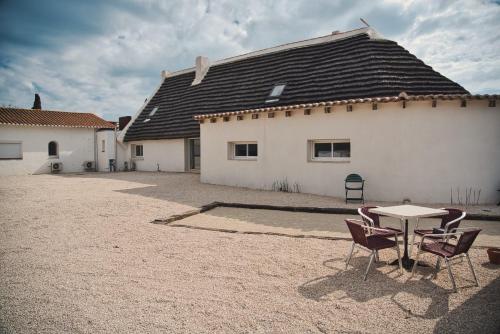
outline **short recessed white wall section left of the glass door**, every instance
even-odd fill
[[[131,146],[143,145],[143,157],[133,159]],[[127,143],[128,157],[136,164],[139,171],[184,172],[184,139],[144,140]]]

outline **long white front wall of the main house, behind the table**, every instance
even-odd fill
[[[308,140],[350,139],[349,162],[308,161]],[[228,142],[257,141],[256,161],[228,159]],[[297,182],[301,192],[344,196],[344,179],[359,173],[370,200],[449,203],[450,189],[481,189],[481,202],[494,203],[500,188],[500,110],[488,101],[430,101],[337,106],[331,114],[293,110],[275,118],[201,124],[201,180],[270,189],[275,180]]]

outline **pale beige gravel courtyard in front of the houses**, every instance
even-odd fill
[[[363,282],[368,257],[358,252],[345,270],[346,240],[150,223],[213,201],[332,206],[328,197],[203,185],[193,174],[0,177],[0,332],[500,331],[500,267],[483,244],[471,251],[480,287],[457,262],[459,292],[450,293],[446,269],[430,280],[432,268],[419,268],[409,279],[385,264],[392,251]],[[287,230],[315,219],[234,210],[186,222],[268,231],[275,221]],[[342,218],[331,217],[333,232]],[[477,223],[484,245],[498,246],[500,222]]]

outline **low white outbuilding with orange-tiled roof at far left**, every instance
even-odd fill
[[[0,174],[109,170],[114,128],[89,113],[0,108]]]

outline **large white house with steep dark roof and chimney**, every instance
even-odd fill
[[[498,97],[471,95],[371,28],[198,57],[162,78],[120,136],[138,170],[342,197],[358,173],[369,200],[498,201]]]

